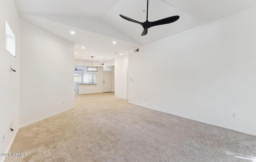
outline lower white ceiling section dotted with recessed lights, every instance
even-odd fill
[[[128,50],[140,46],[139,43],[134,43],[136,41],[111,27],[103,31],[103,33],[109,31],[107,34],[112,33],[112,35],[116,35],[116,37],[91,32],[88,29],[76,27],[76,25],[71,26],[65,23],[58,23],[59,20],[68,20],[66,18],[52,21],[50,18],[45,19],[40,16],[24,13],[20,13],[20,17],[74,43],[74,52],[77,53],[75,54],[76,61],[90,62],[93,56],[94,62],[112,62],[118,57],[128,55]],[[104,26],[104,24],[102,24],[101,27],[107,28],[108,25]],[[111,29],[113,30],[112,32],[110,32]],[[94,30],[96,30],[96,28],[94,28]],[[72,35],[70,31],[75,31],[76,34]],[[116,44],[113,44],[113,41],[116,41]],[[85,49],[82,49],[82,47],[85,47]]]

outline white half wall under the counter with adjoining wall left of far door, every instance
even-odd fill
[[[103,93],[103,67],[98,67],[96,73],[96,84],[79,85],[78,94]]]

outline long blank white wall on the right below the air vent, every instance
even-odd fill
[[[252,8],[129,51],[129,102],[256,135],[255,29]]]

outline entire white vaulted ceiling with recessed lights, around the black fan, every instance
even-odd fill
[[[148,29],[119,16],[146,20],[146,0],[15,0],[20,17],[75,44],[76,61],[110,62],[127,51],[256,6],[256,0],[149,0],[148,20],[179,15]],[[70,31],[75,31],[71,35]],[[112,44],[116,41],[117,44]],[[82,49],[81,47],[86,47]],[[116,53],[116,54],[115,54]],[[111,57],[111,59],[109,59]]]

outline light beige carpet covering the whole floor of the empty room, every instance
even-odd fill
[[[5,162],[256,162],[256,137],[115,98],[75,95],[75,108],[18,131]]]

